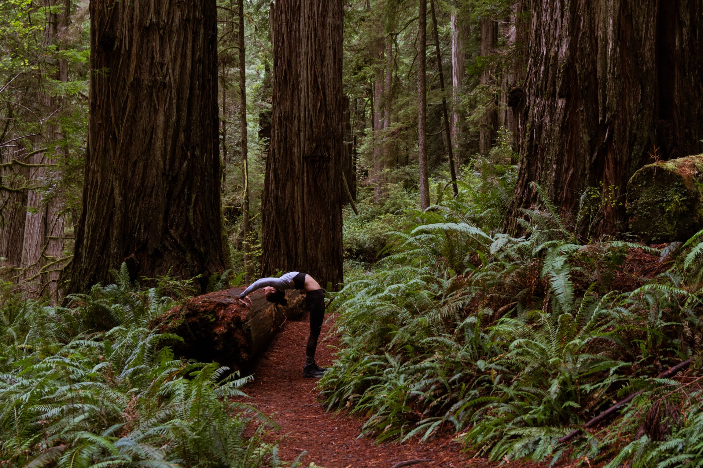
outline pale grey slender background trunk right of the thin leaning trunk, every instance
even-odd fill
[[[466,74],[465,44],[468,41],[468,27],[460,22],[456,8],[451,12],[451,95],[453,109],[451,113],[451,143],[454,149],[454,165],[458,178],[461,178],[461,157],[459,141],[463,138],[464,116],[458,109],[461,86]]]

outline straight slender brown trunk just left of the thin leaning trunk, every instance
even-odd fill
[[[420,0],[418,15],[418,162],[420,164],[420,206],[430,206],[430,178],[427,168],[427,85],[425,65],[427,49],[427,0]]]

